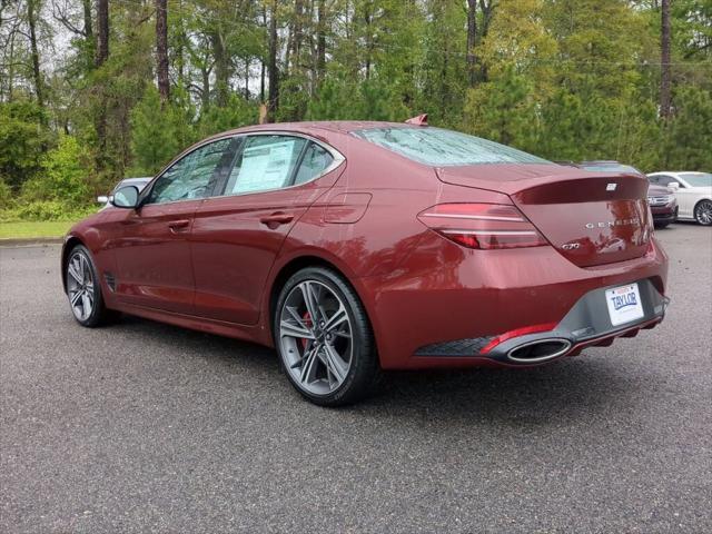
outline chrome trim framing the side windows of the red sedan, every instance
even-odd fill
[[[199,145],[194,146],[192,149],[190,149],[190,151],[184,152],[180,158],[174,159],[170,164],[168,164],[168,166],[166,166],[166,168],[164,170],[161,170],[161,172],[159,175],[156,175],[156,177],[152,180],[150,180],[148,184],[146,184],[146,186],[141,190],[141,195],[144,195],[144,194],[150,195],[150,191],[154,188],[154,184],[156,181],[158,181],[160,179],[160,177],[162,177],[168,171],[168,169],[170,169],[180,159],[190,156],[196,150],[198,150],[198,149],[200,149],[200,148],[202,148],[206,145],[209,145],[211,142],[222,141],[225,139],[235,139],[235,138],[239,138],[239,137],[247,137],[247,136],[300,137],[303,139],[307,139],[307,140],[314,142],[314,144],[318,145],[319,147],[322,147],[323,149],[325,149],[327,152],[329,152],[332,155],[332,157],[334,158],[334,161],[332,161],[332,165],[329,165],[326,169],[324,169],[319,175],[315,176],[314,178],[312,178],[308,181],[303,181],[301,184],[295,184],[295,185],[287,186],[287,187],[276,187],[276,188],[273,188],[273,189],[263,189],[263,190],[259,190],[259,191],[236,192],[236,194],[233,194],[233,195],[212,195],[212,196],[209,196],[209,197],[186,198],[184,200],[172,200],[170,202],[160,202],[160,204],[157,204],[157,202],[156,204],[141,204],[139,207],[144,208],[146,206],[169,206],[169,205],[172,205],[172,204],[180,204],[180,202],[194,202],[196,200],[211,200],[211,199],[215,199],[215,198],[233,198],[233,197],[244,197],[244,196],[247,196],[247,195],[260,195],[263,192],[284,191],[284,190],[287,190],[287,189],[294,189],[295,187],[304,187],[307,184],[312,184],[313,181],[318,180],[323,176],[326,176],[329,172],[336,170],[344,161],[346,161],[346,157],[342,152],[339,152],[337,149],[335,149],[330,145],[327,145],[323,140],[317,139],[316,137],[309,136],[308,134],[301,134],[301,132],[288,131],[288,130],[259,130],[259,131],[245,131],[245,132],[240,132],[240,134],[230,134],[230,135],[226,135],[226,136],[221,136],[221,137],[217,137],[217,138],[212,138],[212,139],[206,139],[205,141],[200,142]]]

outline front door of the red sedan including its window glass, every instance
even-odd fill
[[[141,205],[118,222],[116,294],[126,304],[192,314],[195,279],[190,228],[202,199],[212,195],[233,138],[202,145],[166,169]]]

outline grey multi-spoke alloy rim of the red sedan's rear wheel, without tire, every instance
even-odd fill
[[[354,358],[352,322],[342,298],[317,280],[296,285],[280,310],[279,343],[299,387],[314,395],[336,390]]]

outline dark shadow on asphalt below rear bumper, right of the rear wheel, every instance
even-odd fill
[[[650,398],[650,377],[635,383],[624,367],[617,358],[584,353],[530,369],[393,373],[378,395],[352,409],[522,432],[580,425],[629,413]]]

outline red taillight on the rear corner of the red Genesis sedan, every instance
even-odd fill
[[[514,206],[502,204],[438,204],[418,214],[428,228],[467,248],[542,247],[548,245]]]

